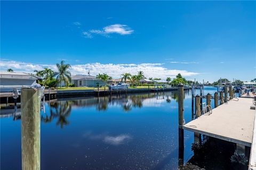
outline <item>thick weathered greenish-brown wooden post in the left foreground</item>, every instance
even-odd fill
[[[22,169],[40,169],[40,101],[39,90],[21,89]]]

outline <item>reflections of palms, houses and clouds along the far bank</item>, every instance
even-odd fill
[[[185,93],[186,94],[186,93]],[[167,93],[142,93],[142,94],[117,94],[113,96],[69,98],[51,101],[48,104],[50,111],[41,116],[43,123],[52,123],[53,119],[58,119],[56,125],[63,128],[70,124],[68,117],[72,108],[92,107],[98,111],[107,111],[109,107],[121,107],[123,111],[130,112],[133,108],[159,107],[163,102],[171,103],[171,100],[178,101],[178,94]]]

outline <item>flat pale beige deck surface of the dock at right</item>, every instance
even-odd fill
[[[238,98],[183,125],[184,129],[251,147],[255,110],[252,99]]]

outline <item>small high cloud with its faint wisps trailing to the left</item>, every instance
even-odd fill
[[[79,27],[81,26],[80,22],[74,22],[73,24]],[[129,35],[129,34],[132,34],[133,32],[134,30],[128,27],[127,25],[122,25],[117,23],[114,25],[103,27],[102,29],[84,30],[82,32],[82,35],[85,38],[93,38],[94,35],[110,37],[110,34]]]

